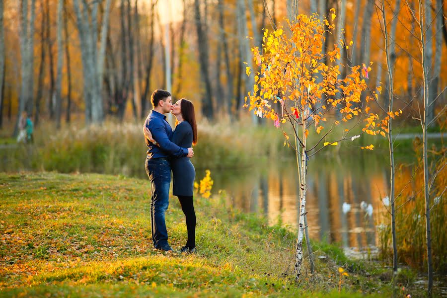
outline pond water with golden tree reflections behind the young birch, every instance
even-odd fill
[[[356,159],[355,161],[352,159]],[[375,246],[374,216],[387,195],[386,160],[359,155],[309,160],[307,221],[310,237],[359,249]],[[298,170],[293,159],[238,171],[212,171],[214,190],[224,189],[228,204],[245,212],[264,213],[270,224],[298,225]],[[346,202],[351,210],[343,213]],[[372,204],[373,216],[361,203]]]

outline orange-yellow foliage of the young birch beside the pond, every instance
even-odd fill
[[[331,11],[333,20],[335,9],[332,8]],[[368,113],[369,102],[377,97],[375,91],[366,98],[366,102],[361,102],[361,93],[368,87],[365,78],[368,78],[373,63],[368,67],[354,66],[345,77],[341,77],[339,66],[335,63],[340,59],[337,45],[326,54],[322,53],[326,28],[332,31],[334,25],[327,19],[320,21],[316,14],[300,14],[295,23],[290,20],[287,23],[292,32],[291,37],[282,27],[271,33],[266,29],[263,51],[258,47],[252,49],[253,59],[260,70],[254,76],[256,84],[253,92],[248,92],[245,97],[245,107],[250,111],[254,110],[259,117],[264,116],[275,121],[277,127],[286,122],[294,127],[301,126],[303,138],[308,135],[305,128],[312,124],[316,133],[320,134],[328,125],[326,116],[330,113],[339,113],[344,122],[360,122],[365,116],[363,131],[370,135],[384,136],[388,117],[394,118],[399,112],[390,113],[385,119]],[[326,65],[325,61],[333,64]],[[251,74],[250,67],[247,67],[246,73]],[[380,91],[380,87],[377,89]],[[281,111],[273,108],[273,104],[277,102],[281,103]],[[330,123],[330,130],[339,123]],[[348,133],[343,134],[339,141],[350,139]],[[368,146],[365,149],[373,147]]]

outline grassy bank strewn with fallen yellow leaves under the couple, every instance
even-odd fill
[[[305,267],[294,283],[295,232],[225,207],[223,198],[195,199],[198,253],[181,255],[153,250],[146,180],[3,173],[0,187],[2,297],[390,296],[389,269],[326,244],[315,243],[316,273]],[[186,226],[174,198],[166,221],[170,244],[181,247]],[[349,274],[341,284],[340,267]]]

